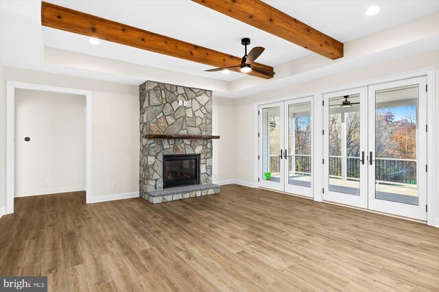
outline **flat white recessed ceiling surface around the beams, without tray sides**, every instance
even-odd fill
[[[220,14],[191,1],[54,1],[74,10],[111,19],[151,32],[178,38],[193,44],[230,53],[244,55],[241,38],[250,37],[251,47],[265,47],[257,60],[278,66],[296,60],[311,52],[291,42],[268,34],[224,14]],[[439,10],[438,1],[265,1],[275,8],[340,40],[347,42],[416,19]],[[381,12],[365,16],[370,5],[379,5]],[[91,45],[88,38],[58,29],[43,28],[43,42],[49,47],[85,53],[113,60],[168,69],[217,80],[233,81],[244,75],[230,72],[224,75],[206,73],[212,67],[181,60],[158,53],[102,41]]]

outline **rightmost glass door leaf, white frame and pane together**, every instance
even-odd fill
[[[371,86],[369,205],[416,219],[425,211],[425,77]],[[422,150],[424,149],[424,150]]]

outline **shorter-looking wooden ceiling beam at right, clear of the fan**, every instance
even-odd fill
[[[343,57],[343,43],[260,0],[192,0],[264,32],[332,60]]]

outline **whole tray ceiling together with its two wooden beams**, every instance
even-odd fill
[[[351,64],[354,61],[363,66],[370,64],[372,59],[400,55],[402,58],[410,52],[420,53],[437,47],[434,42],[437,36],[431,30],[429,20],[423,21],[425,26],[419,28],[421,34],[412,34],[412,30],[407,30],[407,35],[394,34],[397,43],[388,37],[374,38],[374,33],[380,34],[384,29],[427,17],[427,14],[433,15],[439,10],[438,1],[47,2],[69,11],[76,10],[73,14],[77,17],[90,14],[103,22],[118,23],[119,34],[123,27],[134,29],[134,34],[124,34],[137,36],[137,42],[126,37],[112,36],[114,39],[110,39],[106,35],[104,39],[108,40],[91,45],[88,39],[93,31],[84,19],[62,23],[51,12],[49,24],[45,23],[45,16],[41,17],[44,4],[40,1],[1,1],[2,64],[128,84],[156,79],[209,88],[224,93],[222,96],[237,97],[321,76],[316,72],[312,76],[303,75],[307,71],[324,69],[324,74],[335,72],[329,70],[331,64],[342,70],[358,66]],[[372,4],[379,5],[381,12],[377,16],[365,16],[366,8]],[[227,5],[231,8],[227,9]],[[49,26],[42,25],[42,21]],[[149,32],[147,37],[156,38],[155,47],[143,44],[143,31]],[[102,29],[97,32],[102,32]],[[238,72],[205,72],[224,64],[235,65],[235,61],[239,64],[244,55],[241,38],[245,37],[251,39],[249,51],[253,47],[265,47],[256,62],[276,72],[274,78],[265,80]],[[367,41],[369,39],[379,39],[380,42]],[[178,42],[179,49],[163,46],[166,41],[168,44],[169,41]],[[353,43],[359,45],[351,45]],[[375,45],[371,47],[372,44]],[[175,48],[176,44],[173,45]],[[403,49],[403,46],[408,48]],[[390,49],[395,51],[390,53]],[[207,53],[211,58],[207,58]],[[378,56],[379,53],[382,57]],[[366,57],[370,59],[367,62]]]

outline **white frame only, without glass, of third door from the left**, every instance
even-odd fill
[[[360,182],[359,182],[359,196],[348,195],[344,193],[337,193],[329,191],[329,99],[333,97],[342,97],[343,95],[359,94],[359,106],[360,106],[360,147],[359,152],[364,151],[365,160],[364,163],[360,163]],[[341,101],[340,101],[341,102]],[[367,117],[367,104],[368,104],[368,88],[366,86],[353,88],[348,90],[335,91],[333,93],[324,94],[324,201],[335,202],[338,204],[345,204],[349,206],[355,206],[358,208],[368,208],[368,192],[367,192],[367,176],[368,168],[366,163],[366,153],[368,153],[367,145],[367,130],[368,130],[368,117]]]

